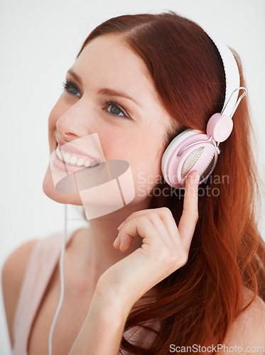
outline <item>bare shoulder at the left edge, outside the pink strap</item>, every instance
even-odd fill
[[[31,255],[33,246],[38,239],[26,241],[18,246],[6,261],[1,270],[1,283],[4,297],[4,307],[6,310],[6,321],[9,328],[9,337],[13,346],[13,319],[16,312],[18,296],[23,283],[23,277],[28,265],[28,259]]]

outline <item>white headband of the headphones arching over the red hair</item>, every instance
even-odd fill
[[[237,65],[237,61],[234,58],[232,51],[229,49],[228,45],[226,45],[220,38],[216,35],[212,35],[209,31],[206,31],[205,28],[202,28],[203,31],[210,37],[217,50],[220,53],[220,57],[222,58],[222,64],[225,70],[225,81],[226,81],[226,89],[225,89],[225,102],[222,107],[222,115],[227,115],[232,118],[232,112],[237,104],[237,94],[233,94],[235,89],[240,87],[240,75],[239,69]],[[232,95],[232,97],[231,97]]]

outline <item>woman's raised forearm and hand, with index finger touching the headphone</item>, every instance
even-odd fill
[[[198,182],[188,176],[178,227],[169,209],[134,212],[121,224],[114,248],[128,251],[135,236],[143,244],[99,278],[90,310],[70,355],[118,354],[131,307],[154,285],[188,261],[198,221]],[[102,339],[103,337],[103,339]]]

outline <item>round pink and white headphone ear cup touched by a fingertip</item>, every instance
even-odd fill
[[[205,133],[188,129],[171,141],[161,161],[163,178],[168,185],[184,189],[188,175],[192,171],[200,172],[199,184],[208,178],[215,169],[218,153],[212,141],[207,139]],[[198,141],[205,142],[197,143]],[[194,143],[193,146],[185,148],[190,143]],[[179,154],[183,148],[185,150]]]

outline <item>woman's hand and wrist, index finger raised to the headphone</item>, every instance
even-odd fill
[[[96,290],[100,295],[118,300],[129,312],[136,300],[187,263],[198,221],[195,175],[188,176],[178,226],[166,207],[134,212],[121,224],[114,248],[128,251],[135,236],[141,236],[142,245],[103,273]]]

